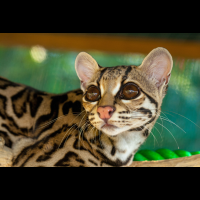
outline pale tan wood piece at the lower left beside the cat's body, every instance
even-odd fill
[[[4,146],[5,140],[0,137],[0,167],[11,167],[13,153],[12,149]]]

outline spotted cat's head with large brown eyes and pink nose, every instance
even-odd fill
[[[90,123],[110,136],[154,125],[172,66],[170,53],[161,47],[140,66],[101,67],[89,54],[79,53],[75,69]]]

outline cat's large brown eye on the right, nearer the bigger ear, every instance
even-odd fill
[[[120,94],[121,99],[134,99],[140,95],[139,87],[134,83],[127,83],[123,86]]]

